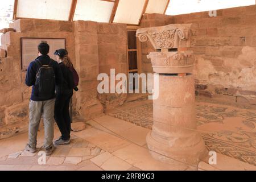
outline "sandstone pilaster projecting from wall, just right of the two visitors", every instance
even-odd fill
[[[86,120],[103,113],[97,99],[99,73],[98,35],[96,22],[75,22],[76,68],[80,76],[75,110]]]

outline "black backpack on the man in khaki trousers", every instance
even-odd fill
[[[35,86],[38,90],[38,97],[42,100],[48,100],[55,92],[55,72],[51,66],[53,60],[49,60],[49,64],[44,64],[36,60],[39,68],[36,72]]]

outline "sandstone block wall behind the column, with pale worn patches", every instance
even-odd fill
[[[150,16],[159,15],[146,15],[142,22],[157,22],[158,18]],[[208,11],[166,17],[172,23],[198,24],[192,30],[198,95],[256,104],[256,5],[218,10],[217,17],[210,17]],[[145,57],[150,47],[144,45],[142,50],[144,72],[151,71],[150,61]]]

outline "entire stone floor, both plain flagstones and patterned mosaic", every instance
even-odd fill
[[[199,101],[197,130],[209,151],[216,151],[217,165],[207,159],[190,166],[151,157],[146,135],[152,127],[152,102],[133,101],[86,122],[86,129],[72,132],[71,144],[57,146],[46,164],[40,165],[43,131],[36,154],[23,151],[27,134],[0,140],[0,170],[256,170],[256,110]],[[55,128],[55,138],[60,135]]]

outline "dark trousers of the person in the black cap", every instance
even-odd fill
[[[72,93],[59,94],[56,96],[54,118],[60,129],[63,140],[70,139],[71,118],[69,115],[69,103]]]

